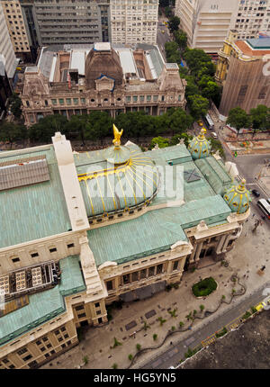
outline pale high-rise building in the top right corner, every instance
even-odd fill
[[[176,0],[175,14],[192,49],[217,53],[229,30],[238,39],[254,39],[270,31],[269,0]]]

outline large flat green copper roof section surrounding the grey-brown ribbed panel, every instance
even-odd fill
[[[2,157],[0,162],[45,155],[49,181],[0,192],[0,248],[49,237],[71,229],[53,147]]]

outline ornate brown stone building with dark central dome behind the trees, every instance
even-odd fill
[[[86,49],[44,48],[37,67],[27,67],[22,94],[29,126],[45,115],[93,110],[159,115],[185,106],[185,81],[175,63],[165,63],[157,46],[136,49],[110,43]],[[112,48],[113,47],[113,48]]]

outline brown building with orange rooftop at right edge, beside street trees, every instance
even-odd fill
[[[220,114],[240,106],[249,112],[258,104],[270,107],[270,38],[238,40],[230,31],[219,51],[216,80],[223,85]]]

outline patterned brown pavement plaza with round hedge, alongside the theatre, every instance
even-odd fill
[[[89,327],[85,332],[84,339],[78,346],[72,348],[67,353],[58,356],[47,365],[41,368],[75,368],[82,365],[82,368],[94,369],[110,369],[113,364],[117,364],[118,368],[127,368],[130,365],[128,356],[134,356],[137,352],[136,345],[141,348],[155,347],[162,342],[166,333],[172,327],[178,328],[179,322],[184,322],[184,328],[190,325],[190,322],[185,318],[189,312],[197,311],[197,315],[201,315],[200,305],[203,304],[205,310],[215,310],[220,302],[221,296],[226,296],[226,301],[229,302],[231,290],[236,291],[240,286],[235,286],[231,281],[232,275],[238,275],[241,284],[247,287],[247,293],[252,293],[258,287],[266,284],[270,277],[270,244],[269,230],[266,224],[258,227],[256,233],[252,233],[255,218],[250,219],[244,224],[241,236],[238,238],[236,247],[227,255],[229,267],[221,266],[219,263],[214,263],[211,258],[204,258],[200,267],[193,273],[184,272],[182,282],[178,289],[172,289],[170,292],[157,293],[145,301],[130,302],[123,304],[121,310],[113,310],[113,319],[108,325],[100,328]],[[257,270],[266,265],[265,274],[257,275]],[[191,291],[191,286],[207,276],[213,276],[218,283],[218,288],[214,293],[211,293],[205,299],[196,299]],[[242,296],[236,298],[237,302]],[[235,302],[235,300],[233,300]],[[229,305],[221,304],[220,309],[216,312],[223,313]],[[177,309],[176,317],[171,317],[168,310]],[[161,326],[158,318],[166,320]],[[207,321],[214,319],[215,314],[203,320],[195,320],[193,329],[200,329],[200,324],[207,324]],[[145,330],[144,321],[148,328]],[[130,336],[135,330],[139,330],[134,335]],[[154,341],[153,334],[157,334],[157,340]],[[153,358],[157,353],[164,352],[170,341],[176,342],[187,337],[190,331],[177,333],[172,339],[166,340],[166,343],[159,349],[150,350],[146,354],[139,356],[138,362],[132,365],[132,368],[138,368],[149,359]],[[121,345],[113,348],[114,338]],[[83,365],[83,356],[88,356],[88,364]]]

